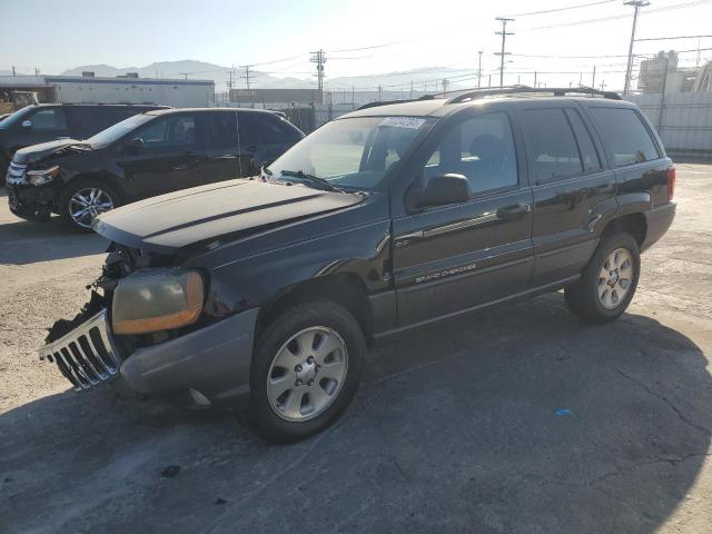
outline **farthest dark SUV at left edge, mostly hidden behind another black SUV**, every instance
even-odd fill
[[[86,139],[136,113],[167,106],[40,103],[27,106],[0,121],[0,185],[12,155],[20,148],[56,139]]]

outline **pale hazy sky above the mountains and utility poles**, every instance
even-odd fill
[[[309,78],[309,52],[326,50],[326,80],[343,76],[439,67],[436,76],[472,80],[482,55],[485,77],[498,82],[501,37],[495,17],[508,16],[505,85],[565,81],[622,86],[633,8],[622,0],[437,2],[387,0],[0,0],[0,70],[60,73],[82,65],[144,67],[195,59],[226,67],[253,65],[277,77]],[[592,6],[577,9],[561,8]],[[533,11],[554,10],[548,13]],[[642,8],[639,38],[712,34],[712,0],[652,0]],[[374,47],[374,48],[372,48]],[[661,49],[712,49],[712,38],[636,42],[636,55]],[[575,56],[575,57],[572,57]],[[683,52],[694,66],[696,52]],[[636,60],[641,58],[636,57]],[[703,50],[701,60],[712,59]],[[227,78],[227,73],[225,75]],[[199,78],[199,75],[195,75]],[[258,80],[255,80],[258,86]],[[474,83],[474,82],[471,82]],[[329,87],[329,86],[327,86]],[[338,90],[333,82],[332,89]],[[368,88],[368,79],[363,81]],[[357,88],[359,89],[359,88]]]

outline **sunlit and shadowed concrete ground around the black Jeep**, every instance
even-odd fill
[[[36,349],[106,243],[0,198],[0,532],[712,532],[712,166],[678,169],[620,320],[583,326],[552,294],[412,333],[291,446],[68,390]]]

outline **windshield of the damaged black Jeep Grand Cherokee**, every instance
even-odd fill
[[[285,152],[269,171],[273,179],[291,181],[301,172],[337,187],[374,189],[431,123],[419,117],[334,120]]]

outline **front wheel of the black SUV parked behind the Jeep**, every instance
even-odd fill
[[[93,219],[118,208],[121,197],[116,189],[101,180],[81,180],[69,184],[59,198],[59,215],[76,229],[91,230]]]

